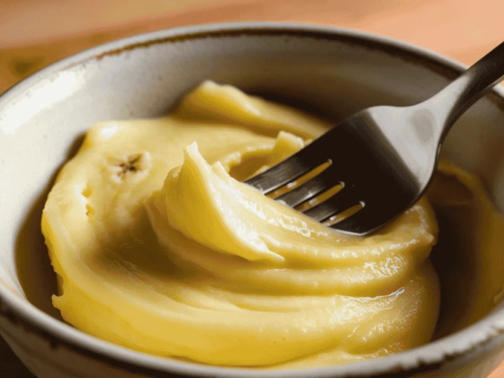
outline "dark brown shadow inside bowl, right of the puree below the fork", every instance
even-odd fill
[[[437,172],[427,197],[439,223],[430,254],[441,285],[436,340],[470,326],[496,306],[504,277],[504,222],[496,213],[489,215],[489,204],[452,175]]]

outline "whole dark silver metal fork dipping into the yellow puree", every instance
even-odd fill
[[[322,173],[276,200],[296,207],[341,183],[342,190],[304,214],[325,222],[360,204],[359,211],[331,227],[368,234],[423,195],[454,122],[502,77],[504,42],[431,98],[413,106],[361,110],[245,182],[266,195],[329,162]]]

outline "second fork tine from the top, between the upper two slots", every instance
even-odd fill
[[[341,183],[341,181],[335,179],[336,177],[337,174],[335,172],[335,169],[333,168],[333,165],[331,165],[318,176],[313,177],[311,180],[305,182],[299,187],[296,187],[292,191],[279,196],[275,200],[282,201],[287,206],[295,207],[305,201],[310,200],[313,197],[317,197],[319,194],[333,187],[334,185]]]

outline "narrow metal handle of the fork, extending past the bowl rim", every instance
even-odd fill
[[[504,42],[426,101],[437,109],[443,139],[460,115],[504,78]]]

